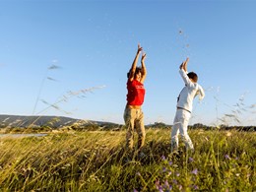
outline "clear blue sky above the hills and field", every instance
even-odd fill
[[[0,0],[0,113],[123,123],[140,43],[146,124],[172,124],[188,56],[206,92],[190,124],[255,125],[255,8],[248,0]]]

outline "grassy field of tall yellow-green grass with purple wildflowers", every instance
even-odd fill
[[[169,134],[147,130],[145,156],[125,131],[0,138],[0,191],[256,191],[255,132],[192,130],[178,155]]]

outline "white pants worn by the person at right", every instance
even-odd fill
[[[178,134],[186,145],[187,150],[194,150],[194,146],[187,133],[187,126],[191,113],[184,109],[177,109],[171,129],[171,152],[178,148]]]

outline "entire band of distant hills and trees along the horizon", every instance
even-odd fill
[[[22,115],[7,115],[0,114],[0,129],[1,128],[71,128],[73,130],[120,130],[122,124],[116,124],[104,121],[82,120],[64,116],[22,116]],[[162,122],[145,125],[146,128],[171,128],[172,125],[167,125]],[[216,130],[217,127],[207,126],[200,123],[190,125],[189,129],[204,129]],[[219,130],[239,130],[239,131],[256,131],[256,126],[227,126],[221,125]]]

